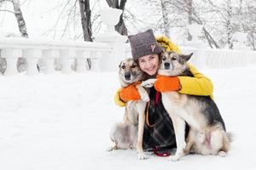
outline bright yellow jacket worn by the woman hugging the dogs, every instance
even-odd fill
[[[156,40],[160,45],[166,48],[167,51],[175,51],[177,54],[181,54],[180,49],[167,37],[156,37]],[[190,94],[190,95],[200,95],[200,96],[212,96],[213,85],[212,81],[201,74],[193,65],[189,65],[189,70],[194,75],[194,77],[178,77],[181,84],[181,89],[178,91],[181,94]],[[125,106],[126,103],[122,101],[119,97],[119,92],[121,88],[114,95],[114,102],[116,105]]]

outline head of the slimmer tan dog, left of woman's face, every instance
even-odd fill
[[[133,59],[125,59],[119,64],[119,78],[123,87],[138,82],[143,79],[143,71],[141,71],[137,62]]]

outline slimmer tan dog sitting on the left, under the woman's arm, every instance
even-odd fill
[[[119,65],[119,80],[122,88],[131,83],[143,80],[143,71],[133,59],[125,59]],[[124,120],[115,124],[110,132],[110,139],[114,146],[110,150],[133,149],[137,148],[139,159],[147,159],[143,153],[143,130],[148,93],[140,84],[136,86],[141,99],[137,101],[128,101],[125,107]]]

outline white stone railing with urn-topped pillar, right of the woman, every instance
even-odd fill
[[[230,68],[241,67],[247,65],[256,65],[256,52],[247,47],[241,42],[242,50],[229,49],[212,49],[207,48],[204,42],[198,39],[202,26],[188,26],[192,41],[187,42],[185,47],[181,47],[184,54],[194,53],[190,62],[198,68]]]

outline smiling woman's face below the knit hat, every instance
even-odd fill
[[[157,54],[148,54],[138,59],[138,64],[142,71],[149,76],[154,76],[158,70],[159,57]]]

